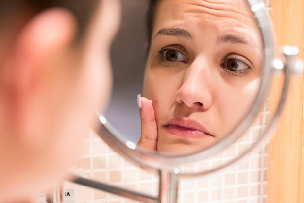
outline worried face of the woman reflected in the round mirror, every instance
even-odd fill
[[[191,152],[212,144],[250,108],[263,45],[247,7],[240,0],[157,5],[143,93],[153,101],[158,151]]]

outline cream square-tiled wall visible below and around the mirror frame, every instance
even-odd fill
[[[268,120],[268,106],[260,113],[248,136],[241,137],[229,150],[208,160],[186,167],[208,169],[231,160],[246,149],[264,130]],[[267,197],[267,142],[246,161],[209,177],[182,179],[179,184],[179,203],[266,203]],[[128,189],[158,193],[157,174],[140,169],[110,149],[93,132],[84,140],[76,166],[84,177],[111,182]],[[136,203],[89,187],[82,189],[83,203]]]

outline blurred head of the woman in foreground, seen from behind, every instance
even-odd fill
[[[57,181],[111,92],[118,0],[0,2],[0,202]]]

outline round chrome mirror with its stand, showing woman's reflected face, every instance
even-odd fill
[[[225,169],[272,135],[298,50],[285,47],[285,58],[274,59],[269,9],[258,0],[122,3],[113,96],[95,131],[123,157],[157,171],[160,199],[176,202],[178,178]],[[160,200],[101,180],[74,182]]]

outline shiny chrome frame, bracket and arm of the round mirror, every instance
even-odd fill
[[[98,115],[99,124],[94,129],[98,135],[116,152],[121,156],[133,162],[135,165],[159,173],[159,194],[158,196],[152,196],[149,194],[144,194],[140,192],[135,192],[122,187],[113,186],[107,183],[97,182],[94,180],[75,177],[73,182],[93,187],[96,189],[101,189],[106,192],[110,192],[116,195],[120,195],[126,198],[134,199],[136,201],[142,201],[147,203],[176,203],[177,202],[177,185],[179,178],[192,178],[205,176],[218,172],[222,169],[227,168],[233,164],[238,163],[243,160],[248,154],[256,150],[261,143],[273,135],[276,126],[278,124],[279,118],[284,109],[284,105],[287,98],[287,93],[289,89],[289,84],[292,74],[300,74],[303,71],[303,63],[296,62],[295,58],[298,54],[298,49],[296,47],[284,47],[282,55],[284,56],[284,63],[280,61],[281,66],[277,66],[277,61],[274,59],[274,42],[273,36],[274,32],[272,29],[271,20],[268,17],[268,9],[265,7],[264,3],[258,0],[247,0],[248,5],[254,12],[256,17],[260,32],[263,37],[264,44],[264,61],[262,76],[260,80],[259,91],[253,102],[253,107],[248,111],[246,115],[249,115],[243,119],[243,121],[234,129],[230,134],[223,137],[213,146],[206,147],[200,152],[193,152],[189,154],[165,154],[160,152],[152,152],[145,149],[130,148],[128,143],[119,135],[118,132],[107,122],[107,120],[102,116]],[[269,91],[271,87],[272,78],[278,72],[285,75],[284,84],[282,89],[282,94],[279,98],[278,105],[274,111],[274,115],[265,131],[258,136],[257,141],[253,145],[238,155],[235,159],[225,163],[215,169],[210,169],[208,171],[199,171],[195,173],[181,173],[179,167],[182,164],[191,163],[199,161],[205,158],[209,158],[211,155],[226,149],[229,145],[235,142],[240,136],[242,136],[245,131],[251,126],[254,119],[257,117],[260,108],[264,105],[265,101],[269,97]]]

